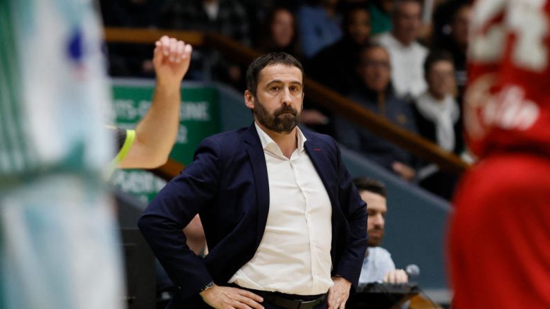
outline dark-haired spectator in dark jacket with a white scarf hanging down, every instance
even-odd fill
[[[455,100],[455,68],[452,57],[446,52],[432,52],[424,64],[428,91],[412,105],[420,134],[446,151],[458,155],[464,150],[459,104]],[[419,169],[421,187],[450,199],[457,177],[439,171],[430,164]]]

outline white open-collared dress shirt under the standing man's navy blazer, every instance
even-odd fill
[[[286,158],[258,125],[269,182],[266,230],[250,261],[230,283],[286,294],[326,293],[331,280],[332,208],[297,129],[297,149]]]

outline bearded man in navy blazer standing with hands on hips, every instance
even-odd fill
[[[244,95],[255,123],[203,140],[145,209],[138,226],[178,288],[168,308],[343,308],[357,286],[366,205],[333,138],[297,127],[302,81],[291,55],[255,59]],[[204,258],[182,232],[196,214]]]

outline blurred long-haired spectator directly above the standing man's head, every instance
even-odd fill
[[[296,19],[291,10],[275,8],[267,13],[258,35],[257,49],[264,53],[284,52],[301,58]]]

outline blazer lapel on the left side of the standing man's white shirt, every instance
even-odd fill
[[[256,200],[258,205],[258,225],[256,231],[256,247],[262,241],[266,230],[267,214],[269,212],[269,182],[267,176],[266,157],[262,142],[254,124],[246,130],[245,142],[248,144],[246,152],[250,157],[256,185]]]

